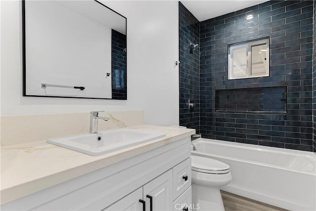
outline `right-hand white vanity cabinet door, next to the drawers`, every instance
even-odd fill
[[[146,211],[172,211],[172,169],[143,186]],[[150,199],[152,197],[152,199]]]

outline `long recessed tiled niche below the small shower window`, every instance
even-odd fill
[[[287,112],[287,86],[217,89],[216,112]]]

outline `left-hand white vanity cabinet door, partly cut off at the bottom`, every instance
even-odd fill
[[[143,188],[138,188],[102,211],[143,211],[140,199],[143,199]]]

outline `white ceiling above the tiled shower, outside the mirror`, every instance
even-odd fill
[[[181,0],[198,21],[207,20],[267,0]]]

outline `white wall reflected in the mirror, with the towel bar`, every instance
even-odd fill
[[[100,4],[89,2],[82,6],[96,14],[93,5]],[[106,76],[112,68],[112,29],[58,1],[30,0],[25,7],[26,94],[112,98],[112,79]],[[85,89],[42,88],[42,83]]]

